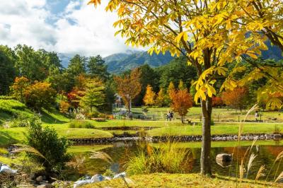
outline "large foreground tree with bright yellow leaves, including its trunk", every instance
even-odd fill
[[[97,5],[100,0],[89,3]],[[173,56],[182,54],[188,64],[196,67],[198,80],[194,83],[194,100],[197,102],[201,98],[202,175],[212,175],[210,126],[212,95],[216,95],[215,77],[226,76],[227,64],[234,64],[235,59],[241,61],[243,55],[257,58],[260,50],[266,49],[262,42],[257,43],[264,40],[262,35],[246,35],[248,25],[243,27],[242,24],[245,20],[241,3],[229,0],[110,0],[106,7],[107,11],[117,13],[118,20],[113,25],[119,30],[115,35],[127,38],[127,45],[149,46],[150,54],[165,54],[166,51]],[[267,28],[272,23],[269,20],[264,21],[268,22]],[[236,86],[233,79],[225,83],[226,88]]]

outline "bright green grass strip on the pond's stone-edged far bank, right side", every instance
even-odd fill
[[[279,127],[281,133],[283,130],[283,124],[276,124]],[[270,133],[275,130],[275,124],[244,124],[243,134],[260,134]],[[215,125],[212,126],[212,134],[238,134],[238,124],[229,125]],[[150,136],[189,136],[189,135],[202,135],[201,126],[183,126],[183,127],[161,127],[147,131]]]

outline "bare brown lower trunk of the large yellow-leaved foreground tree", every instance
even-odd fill
[[[202,106],[202,153],[200,158],[200,173],[212,175],[210,149],[211,149],[211,121],[212,121],[212,98],[201,102]]]

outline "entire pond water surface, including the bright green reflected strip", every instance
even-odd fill
[[[112,169],[117,170],[117,172],[122,172],[125,170],[125,164],[129,157],[137,154],[138,151],[146,149],[146,144],[151,144],[151,146],[158,146],[158,143],[145,143],[145,142],[137,142],[137,141],[125,141],[125,142],[116,142],[107,146],[103,146],[100,151],[108,153],[110,157],[114,160],[115,164],[111,166]],[[248,146],[252,145],[251,141],[244,141],[242,143],[244,146],[238,149],[235,148],[236,142],[213,142],[212,143],[212,171],[218,175],[229,175],[236,176],[236,166],[241,163],[241,158],[245,155]],[[96,146],[96,145],[93,145]],[[178,143],[178,146],[182,148],[187,148],[190,151],[189,163],[187,164],[186,172],[200,172],[200,143]],[[88,150],[84,150],[83,148],[90,148],[90,146],[75,146],[78,150],[81,148],[83,152],[77,152],[75,155],[79,157],[85,158],[83,166],[79,169],[79,171],[70,172],[69,177],[77,178],[82,175],[94,175],[96,173],[105,172],[105,170],[110,168],[108,163],[105,163],[100,159],[89,159],[91,153]],[[255,179],[255,176],[261,165],[265,165],[265,174],[267,174],[272,167],[272,164],[275,161],[277,155],[283,151],[282,141],[258,141],[253,146],[251,153],[254,153],[256,156],[253,161],[253,166],[250,168],[248,173],[248,178]],[[234,153],[233,154],[233,162],[229,167],[222,168],[220,165],[216,163],[216,155],[219,153]],[[238,164],[237,164],[238,158]],[[246,160],[248,163],[248,160]],[[246,162],[245,161],[245,162]],[[275,164],[275,167],[272,168],[270,173],[270,180],[273,180],[275,172],[277,170],[279,163]],[[279,164],[279,168],[277,170],[277,175],[282,172],[283,165]],[[246,173],[245,173],[246,177]],[[265,180],[265,177],[262,177],[262,180]]]

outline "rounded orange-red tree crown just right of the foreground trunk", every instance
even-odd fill
[[[234,88],[222,93],[222,100],[225,105],[231,105],[232,107],[243,109],[245,106],[246,96],[248,95],[247,88]]]

